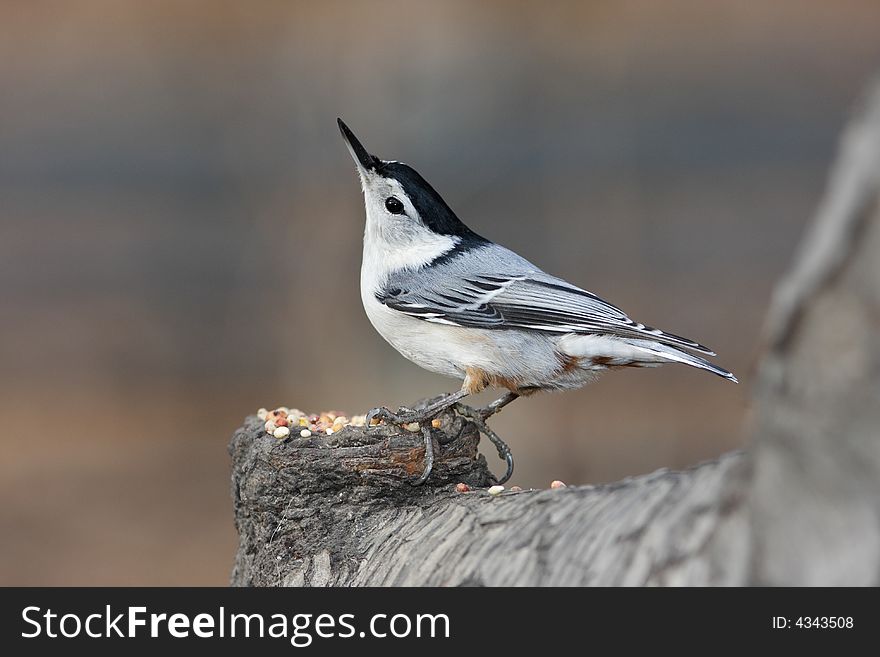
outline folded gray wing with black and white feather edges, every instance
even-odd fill
[[[510,254],[504,263],[493,262],[498,260],[495,253],[480,258],[479,253],[472,251],[474,255],[464,262],[399,272],[376,298],[389,308],[438,324],[616,335],[715,355],[697,342],[634,322],[620,308],[592,292],[550,276],[516,254],[504,251]],[[518,273],[487,273],[489,265],[494,265],[494,271],[512,269]]]

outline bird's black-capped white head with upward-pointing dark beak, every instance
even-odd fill
[[[342,119],[342,138],[354,160],[367,210],[365,237],[389,249],[436,248],[438,255],[463,240],[483,240],[412,167],[371,155]]]

